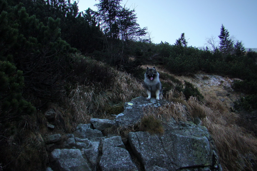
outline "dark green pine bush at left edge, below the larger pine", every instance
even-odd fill
[[[35,107],[22,98],[24,77],[22,71],[8,61],[0,61],[0,130],[2,124],[31,115]],[[2,131],[2,130],[1,130]]]

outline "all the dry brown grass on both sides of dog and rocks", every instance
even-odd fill
[[[93,60],[89,62],[94,62],[94,65],[99,68],[105,67],[105,64],[101,62]],[[162,72],[160,69],[158,71],[160,74],[166,73],[166,71]],[[130,75],[113,68],[108,68],[107,72],[111,73],[109,74],[110,77],[107,78],[109,82],[107,86],[102,86],[100,83],[98,85],[96,82],[88,82],[86,85],[77,85],[71,91],[67,104],[69,104],[70,110],[74,111],[73,120],[75,123],[87,123],[91,117],[105,116],[108,103],[126,102],[145,94],[142,84]],[[169,79],[168,76],[167,78]],[[158,109],[145,110],[144,119],[147,117],[150,120],[154,118],[159,121],[174,119],[179,122],[199,117],[215,141],[223,170],[253,171],[257,163],[256,137],[249,135],[242,127],[236,125],[238,114],[230,112],[230,102],[232,100],[226,97],[226,91],[222,86],[224,82],[219,82],[216,85],[208,82],[212,76],[208,76],[208,78],[202,76],[202,78],[204,82],[197,80],[195,77],[176,77],[181,82],[183,80],[196,82],[194,85],[204,94],[203,103],[200,103],[194,97],[186,101],[183,93],[170,90],[166,93],[166,99],[172,102]],[[150,125],[147,121],[145,123],[147,124],[144,124],[144,126],[137,123],[130,127],[110,128],[106,130],[106,133],[114,131],[116,135],[127,139],[129,132],[142,130],[142,128]]]

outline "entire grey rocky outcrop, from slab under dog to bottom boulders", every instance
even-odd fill
[[[130,132],[128,139],[101,131],[109,127],[133,125],[142,117],[142,107],[167,103],[145,97],[125,103],[125,110],[114,120],[91,119],[79,124],[73,134],[61,136],[61,146],[49,148],[53,171],[146,170],[146,171],[220,171],[216,148],[208,130],[194,123],[170,121],[163,124],[162,135]],[[55,135],[53,137],[60,137]],[[48,141],[49,146],[54,141]],[[125,143],[125,144],[124,144]],[[55,143],[53,143],[55,144]]]

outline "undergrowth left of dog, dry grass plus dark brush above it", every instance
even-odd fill
[[[104,118],[115,112],[110,111],[110,105],[120,106],[144,94],[142,84],[125,72],[84,56],[76,61],[73,77],[77,84],[70,86],[65,99],[76,123],[88,123],[91,117]]]

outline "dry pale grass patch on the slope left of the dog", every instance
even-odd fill
[[[129,74],[88,58],[83,58],[83,62],[95,66],[100,74],[101,68],[103,68],[108,73],[105,73],[104,79],[108,81],[106,81],[106,84],[105,82],[89,81],[86,85],[77,84],[75,89],[71,90],[69,98],[65,101],[73,113],[74,125],[88,123],[91,117],[104,118],[107,115],[106,110],[110,103],[124,103],[144,94],[142,84]],[[92,71],[94,68],[90,68],[90,70],[94,73]],[[94,78],[91,78],[91,80],[95,81]]]

